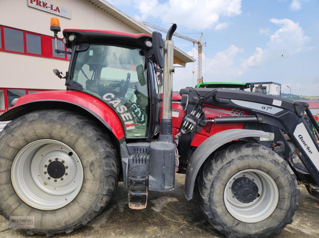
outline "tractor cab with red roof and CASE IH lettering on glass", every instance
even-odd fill
[[[91,94],[111,106],[126,138],[151,138],[158,133],[159,118],[154,116],[160,107],[151,105],[158,93],[155,69],[162,46],[154,51],[152,36],[147,34],[66,29],[63,36],[72,52],[67,89]],[[163,41],[160,34],[154,37]]]

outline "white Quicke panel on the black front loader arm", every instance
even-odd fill
[[[308,131],[303,123],[296,126],[293,135],[298,140],[300,146],[306,151],[312,163],[319,170],[319,152],[308,134]]]

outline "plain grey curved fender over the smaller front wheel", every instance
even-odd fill
[[[189,160],[186,170],[184,193],[187,200],[193,198],[193,191],[197,173],[207,157],[210,156],[211,153],[217,150],[220,146],[230,141],[245,137],[268,138],[269,134],[261,130],[229,129],[210,136],[197,147]]]

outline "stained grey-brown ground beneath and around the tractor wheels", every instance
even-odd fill
[[[225,237],[205,220],[196,199],[185,199],[184,179],[185,175],[176,175],[174,191],[150,191],[148,205],[144,210],[128,208],[127,190],[119,183],[115,196],[100,216],[69,235],[54,237]],[[309,195],[304,185],[300,185],[300,191],[300,207],[293,218],[293,224],[288,225],[278,238],[319,237],[319,200]],[[46,237],[29,236],[20,229],[9,229],[8,226],[8,221],[0,216],[1,238]]]

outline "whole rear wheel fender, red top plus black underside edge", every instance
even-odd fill
[[[59,107],[82,108],[100,120],[118,140],[124,137],[121,121],[114,110],[100,99],[78,91],[46,91],[22,96],[12,108],[0,115],[0,121],[12,121],[31,111]]]

